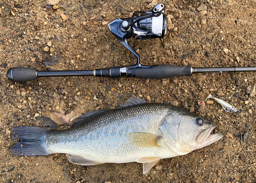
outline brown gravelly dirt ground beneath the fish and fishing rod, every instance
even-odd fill
[[[152,3],[152,4],[151,4]],[[0,180],[1,182],[255,182],[255,72],[195,73],[163,80],[101,77],[47,77],[30,82],[7,80],[10,67],[47,70],[42,61],[63,59],[53,70],[82,70],[129,66],[135,57],[111,34],[106,22],[131,17],[151,9],[155,2],[60,1],[58,9],[45,1],[0,0]],[[256,22],[253,0],[163,0],[166,9]],[[205,8],[205,7],[204,7]],[[66,20],[60,16],[66,15]],[[206,18],[175,10],[166,11],[169,29],[165,48],[158,39],[129,43],[145,65],[171,64],[192,67],[256,66],[255,24],[239,20]],[[51,44],[49,43],[51,42]],[[47,45],[48,44],[48,45]],[[48,48],[46,47],[48,46]],[[211,93],[224,97],[237,113],[227,113]],[[146,175],[142,164],[79,166],[65,154],[23,157],[11,155],[13,125],[38,125],[37,116],[62,123],[89,111],[112,109],[131,96],[147,102],[163,100],[217,124],[224,137],[205,148],[174,159],[161,160]],[[247,138],[244,138],[244,136]]]

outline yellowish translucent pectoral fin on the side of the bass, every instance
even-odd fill
[[[150,133],[134,132],[129,135],[129,140],[138,147],[158,147],[161,136]]]

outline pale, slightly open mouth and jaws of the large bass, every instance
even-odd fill
[[[208,132],[206,129],[197,137],[197,142],[198,142],[197,148],[202,148],[207,145],[210,145],[220,140],[223,137],[223,134],[221,132],[217,134],[210,134],[215,127],[216,125],[212,125],[211,127],[208,128]]]

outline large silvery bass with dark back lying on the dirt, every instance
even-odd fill
[[[143,174],[161,159],[187,154],[223,137],[216,124],[168,103],[132,97],[119,108],[92,111],[68,129],[15,126],[13,155],[66,153],[71,163],[143,163]]]

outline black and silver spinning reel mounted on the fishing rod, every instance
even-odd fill
[[[164,35],[167,31],[164,4],[158,4],[149,11],[136,11],[132,18],[115,19],[109,23],[109,28],[113,35],[136,56],[137,65],[134,67],[143,67],[140,64],[139,54],[127,43],[127,39],[131,37],[136,40],[160,38],[164,45]]]

